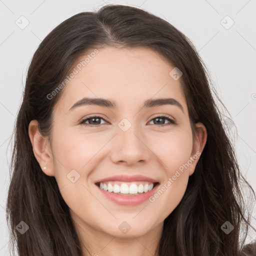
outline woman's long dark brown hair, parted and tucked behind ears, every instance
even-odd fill
[[[155,255],[239,255],[250,226],[241,185],[254,198],[255,193],[240,173],[213,93],[222,102],[207,68],[193,44],[174,26],[145,10],[118,4],[64,20],[43,39],[32,57],[16,118],[10,164],[7,221],[12,250],[16,244],[19,256],[82,255],[79,236],[56,180],[43,173],[34,157],[28,125],[36,119],[41,134],[50,135],[52,109],[64,88],[50,100],[47,95],[78,57],[88,49],[106,46],[149,47],[178,67],[183,73],[180,81],[193,135],[196,122],[207,129],[207,142],[185,194],[164,219]],[[24,234],[15,228],[20,221],[29,226]],[[228,234],[221,229],[226,221],[234,227]]]

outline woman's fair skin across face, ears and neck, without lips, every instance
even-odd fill
[[[169,75],[173,66],[163,57],[148,48],[98,50],[64,87],[53,110],[52,140],[40,135],[36,120],[30,122],[33,152],[42,171],[55,176],[91,255],[152,255],[163,220],[183,197],[199,157],[154,202],[116,204],[101,195],[94,181],[117,174],[142,174],[162,186],[189,157],[202,152],[206,128],[196,123],[198,135],[193,144],[180,81]],[[111,99],[117,108],[84,105],[68,111],[84,96]],[[175,105],[141,108],[145,100],[162,97],[176,99],[184,113]],[[101,124],[79,124],[92,114],[103,118]],[[168,115],[178,125],[167,125],[166,119],[165,126],[159,126],[162,123],[153,119],[157,114]],[[131,123],[125,132],[118,126],[123,118]],[[74,183],[66,177],[72,169],[80,175]],[[125,234],[118,228],[123,221],[131,226]]]

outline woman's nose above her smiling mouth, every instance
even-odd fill
[[[152,154],[147,144],[145,136],[135,125],[126,131],[118,127],[112,141],[110,158],[114,163],[123,162],[126,165],[147,162]]]

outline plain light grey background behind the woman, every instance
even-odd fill
[[[5,220],[11,152],[8,143],[29,61],[40,41],[61,21],[81,11],[97,10],[106,3],[140,6],[191,39],[237,127],[236,133],[235,127],[226,122],[230,137],[235,139],[242,173],[256,190],[256,0],[0,0],[0,256],[9,255]],[[19,26],[26,19],[29,24],[21,29]]]

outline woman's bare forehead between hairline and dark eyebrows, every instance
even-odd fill
[[[144,47],[97,50],[96,54],[90,54],[93,49],[87,51],[74,62],[71,72],[76,74],[64,86],[57,103],[63,110],[85,96],[113,99],[117,108],[172,97],[186,112],[181,84],[169,75],[174,66],[161,55]]]

